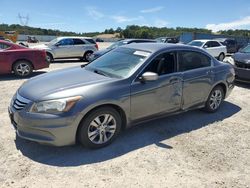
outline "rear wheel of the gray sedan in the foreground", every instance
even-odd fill
[[[209,94],[204,110],[211,113],[216,112],[220,108],[224,96],[223,88],[216,86]]]

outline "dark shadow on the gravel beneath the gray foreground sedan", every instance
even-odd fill
[[[224,102],[216,113],[195,110],[150,121],[124,131],[111,145],[98,150],[86,149],[79,144],[65,147],[46,146],[18,136],[15,144],[24,156],[42,164],[60,167],[93,164],[114,159],[152,144],[166,150],[172,149],[174,145],[165,144],[169,138],[222,121],[240,110],[239,106]]]

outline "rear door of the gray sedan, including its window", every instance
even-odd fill
[[[178,51],[179,71],[183,73],[182,109],[199,106],[211,90],[212,60],[196,51]]]

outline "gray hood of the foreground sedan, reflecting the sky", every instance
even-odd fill
[[[45,73],[29,79],[19,88],[18,93],[32,101],[65,98],[83,95],[83,88],[87,89],[114,79],[79,66]]]

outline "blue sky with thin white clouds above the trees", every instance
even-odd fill
[[[91,32],[127,25],[250,29],[250,0],[1,0],[0,23]]]

